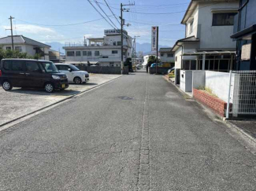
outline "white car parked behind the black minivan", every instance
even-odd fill
[[[89,74],[86,71],[81,71],[72,64],[55,64],[59,72],[65,73],[68,76],[69,82],[76,84],[87,83],[89,81]]]

